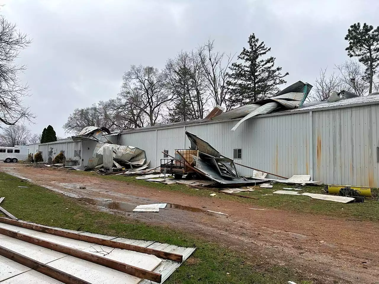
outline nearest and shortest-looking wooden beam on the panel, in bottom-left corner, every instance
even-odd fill
[[[67,284],[90,284],[87,281],[76,278],[75,276],[67,274],[63,271],[56,269],[56,268],[50,267],[49,265],[43,264],[42,262],[35,261],[34,259],[31,259],[27,256],[23,256],[22,254],[19,254],[16,251],[9,250],[9,248],[5,248],[5,247],[0,246],[0,255],[6,257],[8,259],[11,259],[13,261],[16,261],[19,264],[25,265],[26,267],[29,267],[33,270],[36,270],[36,271],[38,271],[44,275],[47,275],[47,276],[54,278],[58,281],[61,281],[63,283],[67,283]]]

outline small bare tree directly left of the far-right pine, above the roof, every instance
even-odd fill
[[[335,66],[340,71],[341,89],[363,96],[367,93],[369,84],[364,80],[365,70],[355,60],[348,60]]]

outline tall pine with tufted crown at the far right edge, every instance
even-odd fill
[[[366,66],[365,81],[370,84],[369,93],[373,90],[373,76],[379,66],[379,26],[374,30],[373,26],[363,23],[355,23],[348,29],[345,40],[349,46],[345,48],[350,57],[358,57],[359,62]]]

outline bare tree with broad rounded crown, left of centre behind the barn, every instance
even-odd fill
[[[164,72],[152,66],[130,66],[122,76],[119,99],[124,109],[140,111],[147,116],[149,125],[162,118],[163,109],[175,99],[166,89]]]

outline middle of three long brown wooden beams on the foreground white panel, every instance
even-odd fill
[[[68,232],[65,232],[68,233]],[[135,267],[132,265],[127,265],[125,263],[113,261],[111,259],[97,256],[91,253],[86,253],[84,251],[76,250],[74,248],[69,248],[64,245],[58,245],[57,243],[48,242],[46,240],[41,240],[36,237],[31,237],[25,234],[20,234],[8,229],[0,228],[0,234],[3,234],[14,239],[22,240],[23,242],[33,243],[34,245],[39,245],[40,247],[49,248],[50,250],[59,251],[60,253],[69,254],[86,261],[91,261],[96,264],[100,264],[109,268],[119,270],[121,272],[128,273],[139,278],[148,279],[154,282],[161,282],[162,275],[159,273],[151,272],[149,270]]]

